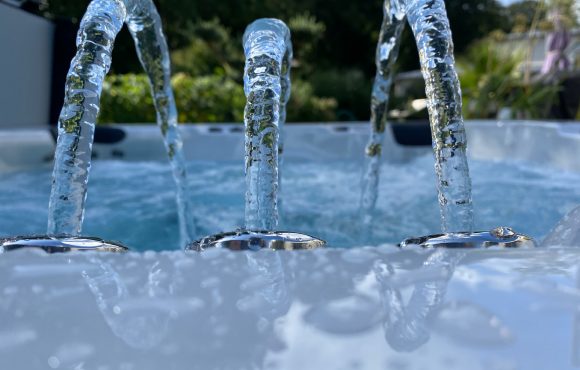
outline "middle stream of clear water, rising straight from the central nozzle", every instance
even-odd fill
[[[278,225],[278,158],[281,116],[289,96],[290,31],[277,19],[259,19],[243,38],[246,65],[245,226],[275,230]],[[291,49],[290,49],[291,50]],[[286,57],[285,57],[286,55]],[[288,67],[284,71],[284,61]]]

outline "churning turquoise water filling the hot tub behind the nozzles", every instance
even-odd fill
[[[580,175],[540,167],[471,161],[476,229],[499,225],[536,238],[580,204]],[[358,237],[361,162],[284,164],[280,230],[326,239],[331,246],[361,245]],[[189,185],[199,236],[244,221],[242,161],[191,162]],[[364,244],[398,243],[439,232],[433,157],[384,164],[373,235]],[[387,175],[388,174],[388,175]],[[171,170],[164,162],[95,161],[84,235],[123,242],[133,250],[177,249],[177,211]],[[4,174],[0,179],[0,235],[43,234],[50,170]]]

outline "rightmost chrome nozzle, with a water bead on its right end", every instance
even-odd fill
[[[491,231],[453,232],[408,238],[399,247],[418,245],[423,248],[534,248],[536,242],[531,237],[518,234],[509,227],[496,227]]]

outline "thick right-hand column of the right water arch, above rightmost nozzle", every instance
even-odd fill
[[[471,178],[461,88],[443,0],[411,1],[407,11],[425,80],[443,232],[472,231]]]

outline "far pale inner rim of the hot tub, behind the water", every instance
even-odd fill
[[[97,159],[163,161],[165,149],[152,124],[119,124],[126,137],[115,144],[95,144]],[[580,122],[466,121],[470,158],[518,161],[580,172]],[[232,161],[244,156],[241,124],[183,124],[180,126],[187,160]],[[360,159],[368,140],[368,122],[301,123],[284,128],[285,159],[327,161]],[[387,130],[384,161],[405,161],[429,147],[395,143]],[[47,129],[0,130],[0,171],[51,166],[54,141]]]

